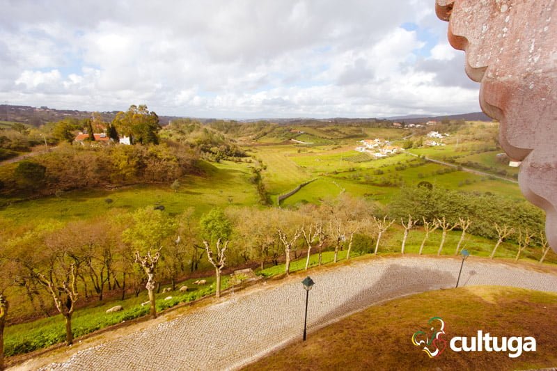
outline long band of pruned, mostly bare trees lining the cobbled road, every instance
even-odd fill
[[[112,210],[100,219],[87,221],[48,221],[27,229],[8,228],[6,222],[6,228],[0,228],[0,329],[6,321],[10,293],[16,305],[27,303],[45,314],[54,306],[65,318],[66,342],[71,344],[71,320],[80,297],[102,300],[107,291],[114,295],[120,290],[123,298],[127,292],[139,294],[145,288],[150,314],[155,317],[155,292],[161,283],[171,283],[175,289],[180,278],[199,267],[214,269],[219,297],[226,267],[257,262],[263,268],[284,261],[288,275],[292,260],[305,258],[308,269],[315,252],[321,265],[325,249],[334,251],[335,262],[344,248],[346,259],[350,259],[356,237],[361,242],[361,236],[368,236],[366,249],[377,254],[382,237],[397,221],[382,214],[375,204],[343,196],[298,210],[230,207],[226,212],[211,210],[201,218],[193,209],[171,216],[148,207],[133,213]],[[450,230],[462,231],[455,253],[460,251],[471,221],[459,218],[450,223],[444,216],[418,220],[410,214],[400,218],[404,230],[401,253],[405,253],[409,233],[418,224],[425,231],[419,253],[423,253],[431,233],[440,229],[440,255]],[[508,226],[495,224],[494,228],[499,239],[492,258],[501,242],[514,232]],[[532,232],[518,230],[517,259],[533,237]],[[543,261],[549,252],[543,234],[537,243],[542,246]],[[47,305],[48,297],[51,306]]]

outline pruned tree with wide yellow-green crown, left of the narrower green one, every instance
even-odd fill
[[[143,269],[150,301],[150,315],[157,317],[155,275],[163,244],[176,230],[176,223],[166,213],[152,207],[139,209],[132,215],[133,225],[122,232],[122,239],[132,246],[134,262]]]

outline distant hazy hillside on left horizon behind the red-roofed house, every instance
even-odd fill
[[[123,110],[126,110],[124,108]],[[88,118],[91,117],[93,111],[77,111],[70,109],[52,109],[47,106],[31,107],[31,106],[11,106],[0,104],[0,121],[13,121],[16,123],[24,123],[33,126],[40,126],[52,121],[60,121],[63,118]],[[112,121],[118,111],[101,112],[102,119]],[[159,116],[161,125],[166,125],[173,116]]]

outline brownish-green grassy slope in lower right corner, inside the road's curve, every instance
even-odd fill
[[[509,358],[504,352],[453,352],[428,358],[411,343],[427,320],[446,323],[446,339],[534,336],[537,352]],[[308,341],[281,349],[246,370],[512,370],[557,363],[557,295],[509,287],[462,287],[396,299],[310,333]]]

